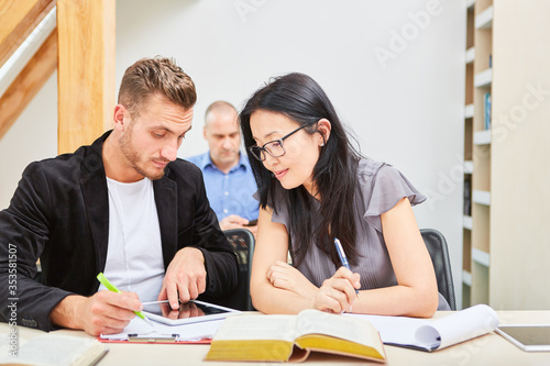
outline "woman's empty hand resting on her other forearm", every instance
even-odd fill
[[[274,287],[293,291],[304,298],[314,299],[319,291],[298,269],[283,260],[272,264],[266,275]]]

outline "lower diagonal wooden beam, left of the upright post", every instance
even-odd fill
[[[57,31],[54,30],[0,98],[0,138],[36,96],[56,67]]]

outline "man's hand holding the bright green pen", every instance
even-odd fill
[[[52,323],[91,335],[120,333],[143,306],[134,292],[99,291],[86,298],[67,296],[51,312]]]

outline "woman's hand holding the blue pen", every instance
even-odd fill
[[[353,302],[358,298],[355,289],[361,288],[360,275],[345,267],[322,282],[314,301],[314,309],[341,313],[351,312]]]

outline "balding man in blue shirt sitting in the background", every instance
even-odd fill
[[[209,151],[187,160],[202,170],[208,200],[221,229],[245,228],[255,235],[258,204],[252,195],[257,187],[249,160],[240,152],[235,108],[221,100],[210,104],[205,113],[204,136]]]

